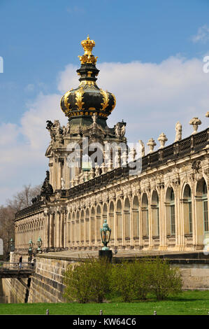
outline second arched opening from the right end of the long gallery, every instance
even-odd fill
[[[182,202],[185,235],[192,235],[192,191],[189,184],[185,186]]]

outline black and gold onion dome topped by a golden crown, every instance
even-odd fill
[[[95,41],[87,36],[86,40],[81,41],[81,45],[85,53],[78,56],[81,62],[80,69],[77,70],[80,85],[64,94],[61,109],[69,120],[75,117],[92,120],[94,113],[99,119],[106,119],[115,108],[115,96],[96,85],[99,69],[95,65],[98,57],[92,55]]]

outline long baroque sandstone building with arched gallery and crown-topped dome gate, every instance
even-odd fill
[[[194,251],[207,248],[209,129],[193,118],[191,136],[182,139],[176,124],[173,144],[160,147],[150,139],[150,152],[129,148],[126,123],[108,127],[115,96],[96,85],[94,41],[82,41],[85,54],[77,70],[80,85],[61,99],[69,118],[61,127],[48,120],[49,158],[41,194],[15,217],[15,250],[27,252],[29,240],[43,241],[48,251],[98,250],[106,219],[110,247],[142,251]],[[95,152],[96,150],[96,152]],[[134,166],[137,167],[133,172]]]

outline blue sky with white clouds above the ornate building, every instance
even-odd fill
[[[94,55],[99,57],[97,67],[103,68],[103,73],[100,73],[101,82],[106,83],[105,87],[110,92],[116,91],[118,107],[114,110],[110,123],[113,125],[115,121],[123,118],[128,126],[130,121],[130,129],[127,127],[128,138],[147,141],[152,137],[149,131],[153,131],[157,140],[157,134],[162,131],[169,135],[170,122],[175,134],[178,116],[175,116],[175,109],[173,110],[172,106],[172,110],[169,110],[169,99],[165,101],[167,110],[164,106],[164,97],[168,94],[166,86],[176,86],[173,68],[179,72],[179,76],[181,72],[183,76],[182,79],[178,79],[180,83],[176,90],[181,90],[185,83],[187,95],[187,98],[183,98],[181,92],[179,98],[178,94],[175,94],[175,97],[170,95],[171,103],[175,103],[176,108],[180,109],[180,104],[189,104],[194,90],[199,90],[196,94],[199,102],[191,102],[185,110],[185,116],[181,109],[177,111],[180,120],[188,123],[192,116],[199,116],[201,120],[205,120],[201,128],[206,128],[208,122],[204,116],[209,99],[206,95],[207,90],[203,89],[208,84],[209,73],[200,73],[199,69],[201,70],[203,57],[209,54],[208,10],[207,0],[0,0],[0,56],[3,57],[3,73],[0,73],[0,204],[5,203],[6,198],[17,190],[21,190],[24,184],[36,185],[45,178],[48,162],[45,160],[44,150],[49,139],[47,137],[37,140],[37,145],[41,143],[43,148],[34,146],[31,139],[36,139],[38,130],[37,127],[33,130],[33,121],[29,120],[29,115],[31,116],[31,111],[34,111],[34,116],[40,119],[40,126],[43,125],[43,129],[45,122],[41,123],[41,120],[45,121],[47,115],[49,120],[55,119],[56,113],[57,118],[62,116],[57,99],[70,87],[78,86],[78,83],[68,84],[78,80],[76,73],[73,72],[80,66],[78,55],[83,53],[80,41],[85,39],[87,34],[96,41]],[[117,63],[121,65],[116,65]],[[137,64],[134,66],[134,63]],[[133,80],[131,76],[127,79],[127,74],[133,68]],[[118,76],[124,73],[122,80],[127,88],[125,98],[120,98],[123,89],[119,87],[121,82],[115,76],[111,76],[113,71]],[[194,78],[194,85],[189,83],[188,87],[188,80],[184,82],[187,75],[188,80]],[[146,104],[143,94],[147,94],[147,99],[150,94],[147,92],[149,88],[143,91],[143,85],[152,85],[155,81],[157,86],[157,78],[160,82],[164,80],[164,89],[157,92],[152,104]],[[166,79],[171,80],[166,83]],[[129,83],[126,84],[125,81]],[[134,85],[134,95],[131,94],[131,83]],[[138,91],[137,84],[140,88]],[[141,102],[138,102],[137,94],[142,97]],[[154,94],[152,93],[152,97]],[[136,106],[136,109],[129,113],[131,97],[132,101],[136,97],[136,102],[133,101],[130,105]],[[57,102],[57,109],[52,110],[50,106],[53,99]],[[49,106],[47,109],[44,108],[44,103],[45,108]],[[122,109],[123,104],[126,104],[127,111],[125,108]],[[154,113],[151,109],[153,104],[159,104],[161,111],[158,109],[158,113]],[[44,116],[41,114],[43,111],[46,113]],[[149,111],[152,114],[149,114]],[[54,117],[51,118],[51,115]],[[165,116],[167,120],[163,119]],[[134,125],[136,121],[138,126]],[[34,131],[33,136],[31,131],[27,130],[28,125],[29,130]],[[156,125],[161,126],[155,134]],[[143,126],[146,127],[145,130]],[[135,133],[140,131],[140,127],[141,135],[136,137]],[[187,129],[191,130],[191,127]],[[170,140],[171,142],[173,141]],[[25,160],[29,146],[31,148],[28,149],[28,156],[34,154],[33,163],[27,163]],[[8,157],[7,153],[3,153],[6,148],[10,148],[11,153],[13,148],[16,151],[18,148],[24,149],[24,156],[21,152],[18,154],[20,158],[24,158],[25,165],[22,165],[23,161],[21,162],[17,154],[14,158],[15,165],[12,165],[12,155]],[[39,153],[36,155],[36,152]],[[7,168],[10,174],[3,174],[1,178],[4,168]]]

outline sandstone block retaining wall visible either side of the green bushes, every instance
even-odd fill
[[[68,258],[57,255],[38,255],[36,257],[36,273],[30,279],[23,279],[29,286],[29,293],[18,279],[1,279],[4,295],[8,302],[66,302],[63,283],[63,272],[72,262]],[[209,290],[209,265],[189,264],[171,265],[180,268],[183,289]]]

